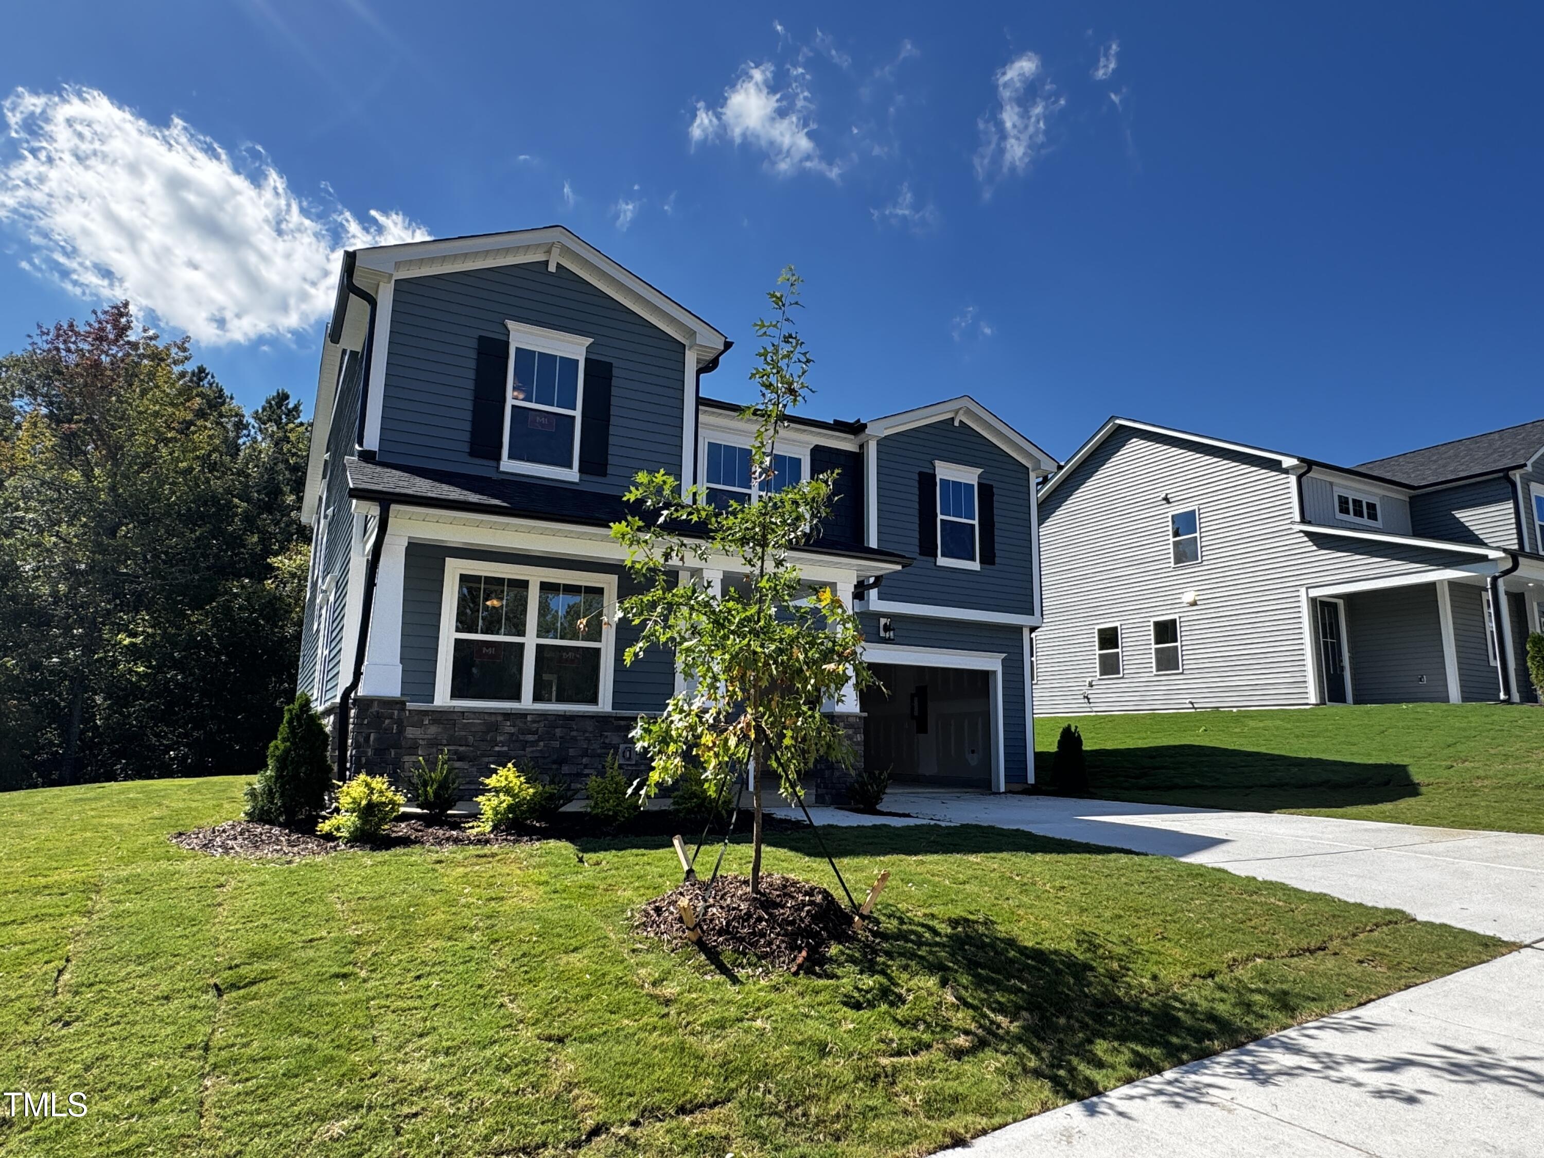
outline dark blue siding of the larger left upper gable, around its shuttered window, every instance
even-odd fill
[[[577,273],[545,262],[405,278],[392,289],[380,460],[497,476],[469,454],[477,338],[508,340],[505,320],[591,338],[610,361],[607,476],[557,486],[621,494],[638,471],[681,472],[686,346]]]

